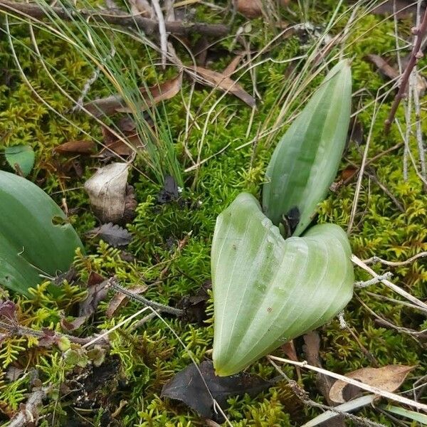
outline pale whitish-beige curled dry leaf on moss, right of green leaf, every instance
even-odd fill
[[[108,164],[85,182],[93,211],[105,223],[120,222],[125,214],[129,167],[127,163]]]

